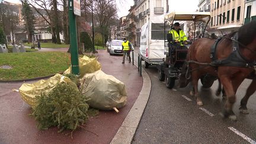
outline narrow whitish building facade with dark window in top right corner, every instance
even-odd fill
[[[244,24],[256,21],[256,0],[245,1]]]

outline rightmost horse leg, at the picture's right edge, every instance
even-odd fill
[[[240,112],[243,114],[249,114],[248,109],[247,109],[247,102],[249,97],[254,94],[254,92],[256,91],[256,78],[252,79],[251,84],[249,85],[249,87],[247,88],[247,92],[245,94],[245,96],[242,98],[241,102],[240,102]]]

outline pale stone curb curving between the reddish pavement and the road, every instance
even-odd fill
[[[137,66],[137,65],[135,65]],[[116,135],[111,140],[111,144],[132,143],[133,136],[139,126],[140,119],[148,103],[149,95],[151,93],[151,79],[148,73],[142,69],[143,85],[137,100],[133,104],[129,113],[121,124]]]

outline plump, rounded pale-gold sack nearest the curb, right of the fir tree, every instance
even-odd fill
[[[82,94],[90,107],[98,110],[113,110],[127,103],[127,92],[123,82],[103,71],[87,73],[81,82]]]

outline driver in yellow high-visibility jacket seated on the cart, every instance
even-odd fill
[[[184,46],[183,42],[187,41],[185,33],[180,28],[180,23],[175,23],[174,27],[169,31],[172,34],[172,39],[175,43],[180,43],[181,46]]]

